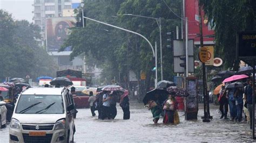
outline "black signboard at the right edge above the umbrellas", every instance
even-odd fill
[[[237,33],[237,59],[256,59],[256,31]]]

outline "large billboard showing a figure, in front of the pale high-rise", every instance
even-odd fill
[[[70,27],[74,27],[74,17],[46,18],[46,47],[48,52],[57,52],[63,45],[64,39],[71,34]],[[71,51],[66,47],[64,51]]]

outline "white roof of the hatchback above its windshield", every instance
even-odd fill
[[[29,88],[22,95],[61,95],[62,88]]]

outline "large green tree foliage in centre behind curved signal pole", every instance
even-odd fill
[[[173,11],[181,15],[181,0],[169,0],[166,3],[172,7]],[[159,67],[160,42],[157,21],[149,18],[124,16],[123,14],[161,17],[164,80],[172,81],[172,49],[166,48],[166,45],[169,45],[166,42],[166,32],[175,31],[181,20],[167,8],[163,1],[84,1],[84,4],[87,17],[138,32],[149,39],[153,46],[154,41],[157,41]],[[71,35],[60,51],[64,50],[66,46],[72,46],[71,59],[80,54],[96,59],[96,61],[90,62],[100,65],[103,69],[102,82],[110,83],[112,79],[116,78],[127,88],[129,87],[129,83],[127,83],[129,70],[132,70],[138,79],[140,71],[146,72],[146,82],[153,85],[154,73],[151,69],[155,65],[152,50],[149,44],[138,35],[86,20],[85,28],[75,27],[72,29]],[[158,75],[160,75],[160,68]],[[160,76],[158,80],[160,80]]]

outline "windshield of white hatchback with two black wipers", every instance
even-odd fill
[[[15,113],[64,113],[62,95],[21,95]]]

